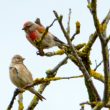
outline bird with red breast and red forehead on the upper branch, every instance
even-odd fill
[[[60,49],[66,44],[59,40],[58,37],[54,36],[52,33],[47,32],[42,38],[46,28],[40,23],[34,23],[27,21],[24,23],[22,30],[26,33],[27,40],[38,49],[39,55],[44,55],[44,49],[49,49],[51,47],[57,46]],[[42,41],[39,43],[39,41]]]

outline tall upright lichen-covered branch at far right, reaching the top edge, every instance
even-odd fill
[[[94,20],[94,25],[97,31],[97,34],[100,38],[101,41],[101,46],[102,46],[102,56],[103,56],[103,64],[104,64],[104,78],[105,78],[105,83],[104,83],[104,96],[103,100],[104,103],[106,104],[109,100],[109,93],[110,93],[110,88],[109,82],[110,82],[110,71],[109,71],[109,56],[108,56],[108,47],[106,45],[106,26],[107,24],[100,24],[99,19],[97,17],[97,0],[92,0],[91,3],[92,7],[92,15],[93,15],[93,20]],[[109,15],[108,15],[109,17]],[[109,18],[110,19],[110,18]],[[109,20],[108,20],[109,21]],[[98,105],[96,106],[96,108]],[[100,105],[99,105],[100,107]]]

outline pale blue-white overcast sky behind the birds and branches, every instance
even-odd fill
[[[67,25],[68,10],[72,9],[71,35],[75,31],[75,22],[81,23],[81,33],[76,37],[74,44],[87,42],[89,35],[95,31],[92,16],[87,8],[87,0],[0,0],[0,110],[5,110],[8,106],[15,86],[9,79],[9,65],[13,55],[20,54],[26,58],[25,64],[33,73],[33,77],[45,77],[45,71],[54,68],[65,56],[55,56],[51,58],[36,55],[35,49],[25,38],[25,33],[21,30],[24,22],[35,21],[37,17],[41,19],[44,26],[48,26],[54,20],[53,10],[64,16],[64,25]],[[98,0],[98,16],[100,21],[106,16],[110,9],[110,0]],[[66,42],[58,23],[56,22],[50,31]],[[110,24],[107,35],[110,34]],[[110,46],[110,45],[109,45]],[[57,50],[53,48],[46,51]],[[95,60],[100,62],[100,43],[97,40],[91,53],[92,67],[95,67]],[[98,71],[102,71],[99,68]],[[69,61],[63,66],[57,76],[79,75],[76,66]],[[95,81],[100,95],[103,94],[103,84]],[[32,99],[32,94],[24,93],[24,105],[28,105]],[[79,110],[79,103],[88,100],[84,80],[62,80],[52,82],[44,91],[43,96],[46,101],[40,102],[35,110]],[[90,108],[87,108],[87,110]],[[17,100],[13,110],[17,110]]]

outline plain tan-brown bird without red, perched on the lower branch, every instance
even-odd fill
[[[32,74],[24,65],[24,59],[25,58],[21,55],[14,55],[9,66],[10,79],[12,83],[20,90],[23,90],[24,87],[33,84]],[[45,99],[34,89],[34,87],[30,87],[28,90],[35,94],[41,101]]]

